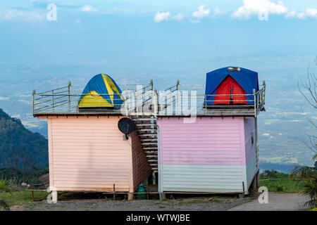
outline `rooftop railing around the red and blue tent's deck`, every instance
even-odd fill
[[[265,82],[260,85],[259,91],[254,89],[252,94],[206,95],[204,91],[204,85],[180,84],[180,82],[177,82],[174,89],[166,89],[165,93],[160,91],[159,115],[245,115],[256,117],[261,110],[264,110]]]

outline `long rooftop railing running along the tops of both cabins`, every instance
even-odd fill
[[[129,84],[130,86],[134,84]],[[124,103],[114,103],[114,109],[97,109],[94,110],[96,112],[104,111],[105,113],[120,113],[120,106],[124,105],[123,110],[127,115],[164,115],[164,111],[166,111],[166,115],[187,115],[187,113],[194,112],[192,110],[196,110],[197,115],[253,115],[257,116],[259,111],[263,110],[265,105],[265,91],[266,84],[263,82],[261,89],[259,91],[255,91],[253,94],[201,94],[194,92],[194,99],[192,99],[192,92],[185,92],[187,95],[187,102],[184,101],[182,91],[184,90],[192,90],[192,89],[182,89],[182,86],[197,86],[203,87],[204,85],[194,85],[194,84],[180,84],[179,81],[176,82],[175,85],[170,86],[170,88],[163,91],[163,96],[161,96],[161,91],[158,94],[158,91],[154,91],[153,89],[153,81],[150,81],[150,84],[146,84],[140,88],[137,84],[135,84],[135,88],[123,89],[123,91],[128,91],[124,95],[121,94],[98,94],[99,96],[108,96],[112,98],[113,96],[120,96]],[[33,91],[32,98],[32,113],[33,115],[45,115],[46,113],[80,113],[80,108],[78,108],[78,103],[80,96],[82,93],[79,93],[78,89],[72,89],[73,86],[69,83],[68,86],[64,86],[59,89],[54,89],[51,91],[44,91],[42,93],[36,93]],[[67,88],[67,89],[66,89]],[[64,90],[63,90],[64,89]],[[57,90],[57,91],[56,91]],[[202,89],[201,89],[202,90]],[[81,92],[81,91],[80,91]],[[164,95],[165,94],[165,95]],[[86,94],[87,96],[95,97],[96,94]],[[190,95],[190,97],[189,97]],[[245,96],[245,99],[237,99],[235,103],[239,102],[247,102],[247,105],[214,105],[213,103],[219,103],[223,101],[230,100],[221,100],[221,99],[212,99],[209,98],[211,96]],[[89,98],[90,99],[90,98]],[[87,100],[87,104],[85,107],[89,107],[89,101],[94,101],[94,98]],[[193,102],[195,101],[195,102]],[[207,104],[208,103],[208,104]],[[144,105],[154,104],[154,108],[152,110],[143,112]],[[193,105],[191,105],[193,104]],[[94,104],[95,105],[95,104]],[[180,112],[175,112],[173,109],[178,110],[176,108],[186,106],[184,110]],[[102,106],[101,106],[102,107]],[[189,110],[190,107],[191,109]],[[194,108],[193,108],[194,107]],[[147,108],[147,107],[146,107]],[[250,111],[253,108],[253,113]],[[231,110],[232,109],[232,110]],[[170,111],[172,110],[172,111]],[[230,114],[231,110],[231,114]],[[143,114],[142,114],[143,113]]]

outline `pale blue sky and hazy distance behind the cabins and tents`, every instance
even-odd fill
[[[266,80],[263,138],[273,136],[265,127],[272,121],[309,133],[301,114],[316,114],[297,82],[309,65],[317,71],[316,28],[316,0],[1,0],[0,108],[35,129],[33,89],[85,86],[103,72],[119,84],[154,79],[159,90],[177,79],[204,84],[206,72],[240,66]]]

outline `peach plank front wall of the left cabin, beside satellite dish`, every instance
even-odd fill
[[[48,117],[50,186],[57,191],[113,191],[115,184],[116,191],[133,191],[132,155],[139,147],[135,136],[123,140],[120,118]]]

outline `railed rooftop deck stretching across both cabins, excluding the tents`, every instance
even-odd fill
[[[204,85],[180,84],[156,91],[153,82],[149,84],[119,84],[125,103],[113,109],[80,110],[78,102],[83,86],[68,86],[37,93],[33,91],[32,113],[41,115],[151,115],[157,116],[252,116],[256,117],[265,110],[266,84],[259,91],[245,94],[249,105],[212,105],[205,107]],[[111,96],[109,94],[100,94]],[[215,95],[212,95],[215,96]],[[225,95],[223,95],[225,96]],[[240,95],[241,96],[241,95]],[[94,101],[92,94],[92,101]],[[88,105],[89,106],[89,105]]]

